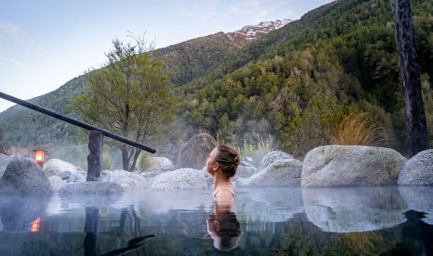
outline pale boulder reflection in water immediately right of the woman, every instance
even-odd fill
[[[243,197],[244,191],[247,198]],[[304,212],[300,187],[242,188],[242,192],[235,202],[236,215],[242,221],[288,221],[293,214]]]

